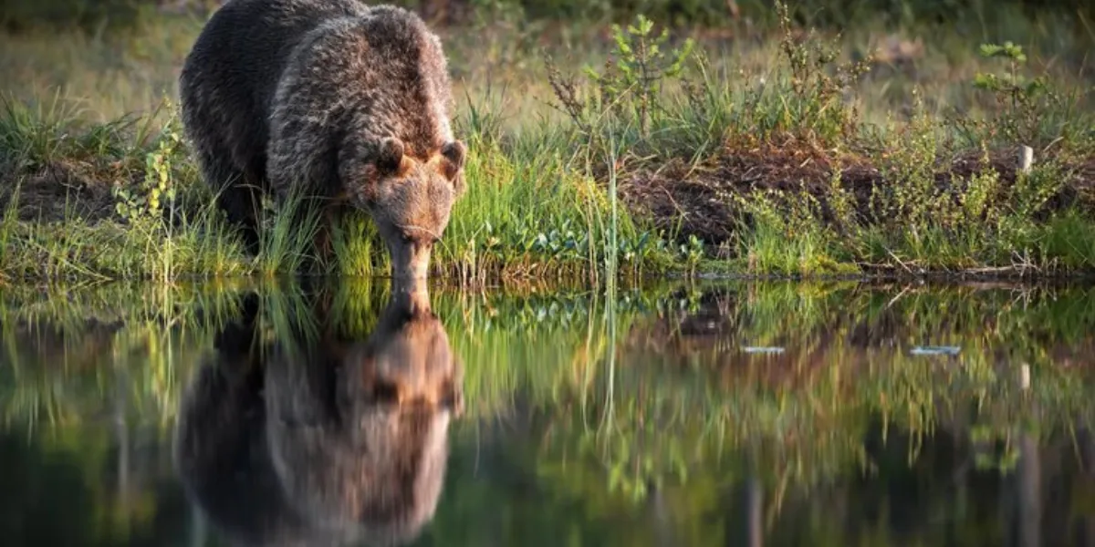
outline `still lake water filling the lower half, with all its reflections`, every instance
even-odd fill
[[[1093,361],[1084,284],[9,288],[0,543],[1095,545]]]

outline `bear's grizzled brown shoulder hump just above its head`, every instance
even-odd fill
[[[378,5],[365,16],[327,20],[281,72],[270,171],[292,184],[325,179],[295,170],[323,163],[309,160],[330,154],[337,144],[328,139],[347,131],[366,142],[397,138],[407,155],[428,161],[453,139],[450,85],[440,39],[414,12]]]

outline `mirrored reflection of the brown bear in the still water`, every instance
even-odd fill
[[[233,545],[416,538],[463,407],[461,366],[425,289],[393,289],[359,341],[298,335],[260,348],[257,309],[249,301],[219,334],[181,404],[175,465],[191,499]]]

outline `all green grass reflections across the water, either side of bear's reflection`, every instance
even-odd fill
[[[199,353],[239,306],[240,288],[224,289],[7,293],[5,419],[74,426],[124,404],[127,416],[165,426]],[[434,309],[465,368],[469,420],[532,417],[545,435],[539,473],[560,496],[641,500],[652,485],[715,488],[746,473],[811,485],[850,473],[863,463],[875,416],[918,434],[945,427],[1002,440],[1022,423],[1037,421],[1048,435],[1093,418],[1085,376],[1051,353],[1058,342],[1092,346],[1092,289],[670,289],[621,290],[613,336],[607,301],[586,292],[435,288]],[[267,339],[318,328],[318,298],[328,299],[344,335],[365,337],[388,298],[387,284],[364,280],[327,294],[273,283],[261,292]],[[708,309],[718,313],[698,315]],[[93,334],[91,317],[123,323],[89,352],[79,344]],[[53,348],[56,358],[31,353],[50,348],[28,346],[15,319],[56,325],[65,346]],[[717,334],[710,342],[683,336],[690,321],[714,322]],[[912,345],[950,341],[963,348],[957,359],[908,354]],[[745,345],[786,352],[746,358]],[[1028,392],[1014,380],[1021,362],[1031,365]]]

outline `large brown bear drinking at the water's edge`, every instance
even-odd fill
[[[392,275],[426,276],[464,190],[441,43],[413,12],[359,0],[229,0],[180,75],[186,136],[218,203],[258,249],[260,197],[322,200],[321,240],[365,210]]]

